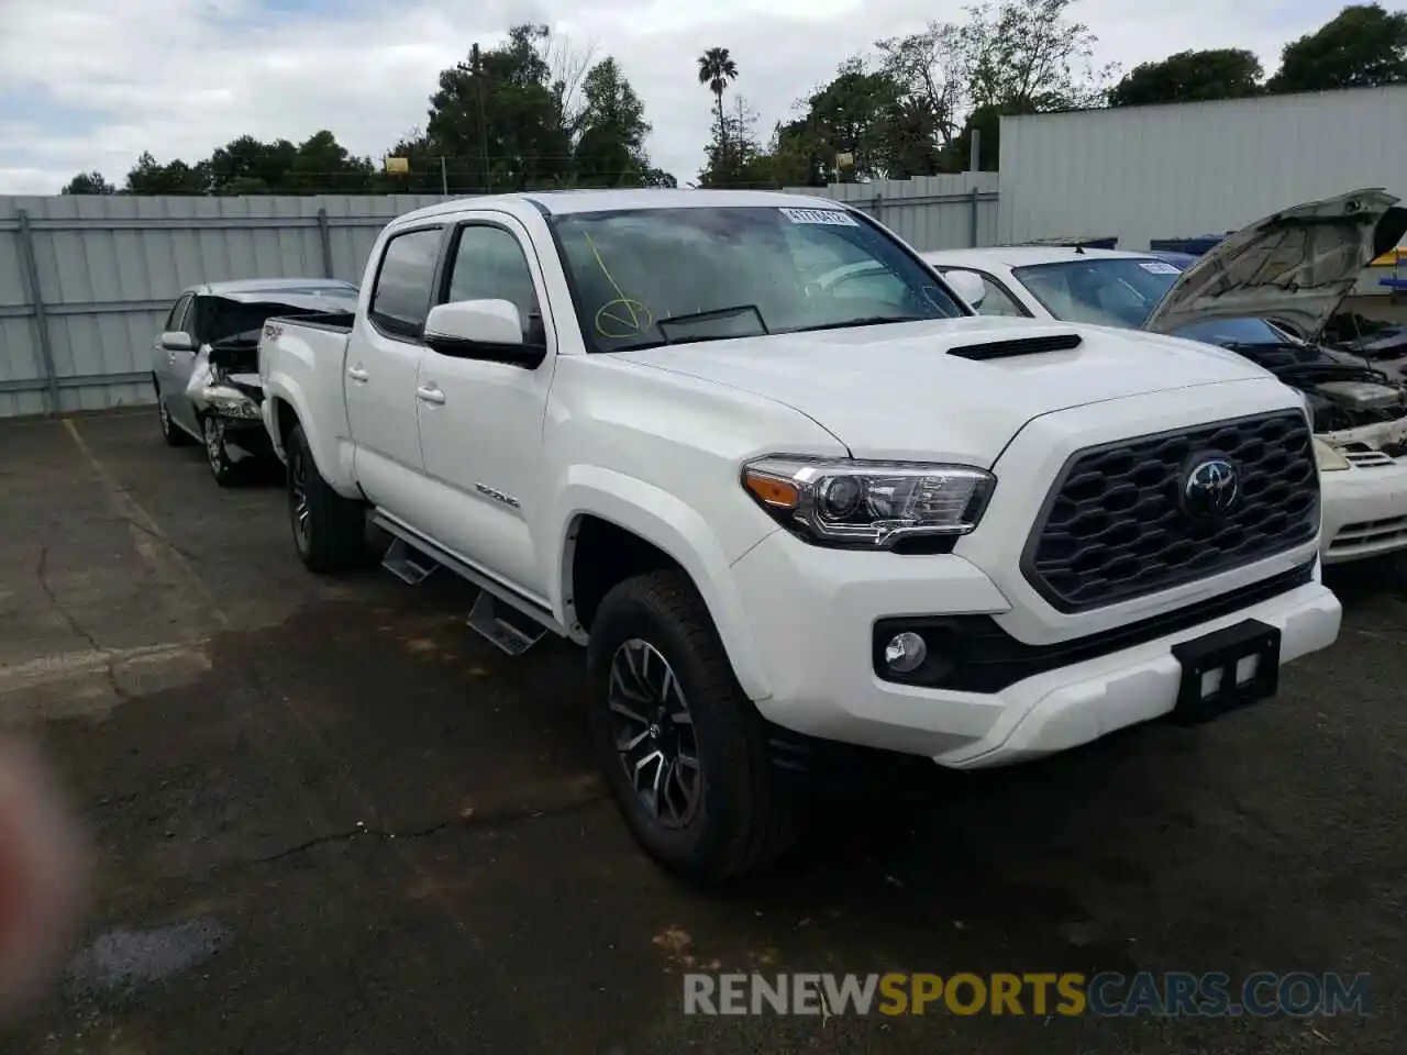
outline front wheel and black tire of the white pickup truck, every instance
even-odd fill
[[[708,609],[685,574],[654,571],[616,585],[597,610],[587,657],[592,750],[630,834],[647,854],[691,883],[718,886],[789,848],[796,812],[771,764],[761,715],[737,684]],[[643,705],[635,713],[646,723],[613,710],[612,692],[619,693],[613,671],[626,681],[632,661],[654,689],[663,689],[664,672],[671,672],[684,703],[678,712],[674,698],[670,709],[692,720],[673,723],[660,710],[642,713]],[[636,738],[637,730],[646,733],[637,753],[623,754],[618,743]],[[656,799],[654,810],[630,776],[640,753],[650,748],[663,753],[661,762],[637,772],[651,784],[651,768],[666,775],[666,798]],[[675,761],[671,772],[663,765],[671,753],[682,760],[691,750],[695,767]],[[685,776],[691,771],[695,785]],[[691,786],[696,791],[692,806]]]

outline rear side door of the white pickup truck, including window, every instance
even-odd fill
[[[412,525],[419,515],[415,477],[425,468],[415,376],[443,238],[443,224],[435,224],[400,231],[386,242],[343,363],[357,480],[367,498]]]

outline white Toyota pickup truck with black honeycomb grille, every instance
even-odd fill
[[[585,646],[606,782],[695,881],[788,844],[809,748],[1023,761],[1263,699],[1334,641],[1303,395],[961,293],[787,194],[400,217],[350,328],[265,328],[298,553],[355,565],[370,518],[505,650]]]

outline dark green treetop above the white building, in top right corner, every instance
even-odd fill
[[[1332,91],[1407,82],[1407,11],[1349,4],[1320,30],[1285,45],[1271,91]]]

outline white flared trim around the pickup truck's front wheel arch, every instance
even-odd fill
[[[566,599],[571,596],[570,556],[575,525],[584,515],[609,520],[673,557],[702,595],[743,691],[754,702],[771,696],[743,598],[733,582],[732,564],[743,554],[730,557],[725,553],[708,522],[677,495],[601,466],[573,466],[567,470],[553,512],[556,530],[546,536],[563,540],[554,547],[550,557],[553,565],[547,568],[547,582],[553,584],[552,606],[563,625],[575,626]],[[757,542],[771,530],[763,528]]]

